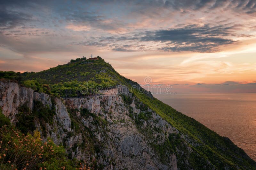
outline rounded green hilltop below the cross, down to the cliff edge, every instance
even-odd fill
[[[118,74],[115,69],[98,56],[99,60],[74,60],[38,73],[22,74],[24,85],[48,84],[56,96],[84,96],[80,87],[93,89],[89,94],[96,94],[99,88],[115,87],[130,80]]]

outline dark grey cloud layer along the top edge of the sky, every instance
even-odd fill
[[[184,14],[194,11],[215,12],[220,9],[254,15],[256,3],[255,0],[134,0],[119,2],[114,0],[74,2],[10,0],[1,2],[0,25],[5,29],[13,28],[31,21],[32,16],[44,20],[44,16],[49,17],[48,14],[51,12],[53,17],[51,19],[59,18],[62,22],[65,21],[80,27],[93,27],[110,33],[124,33],[133,30],[135,23],[142,23],[147,20],[147,17],[162,19],[166,11],[169,11],[166,14],[170,14],[170,12]],[[141,18],[142,16],[144,17]],[[166,16],[164,20],[167,18],[170,17]],[[155,20],[152,23],[155,23]],[[143,27],[145,26],[143,25]]]

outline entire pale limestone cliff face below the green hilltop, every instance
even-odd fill
[[[52,138],[70,159],[84,160],[96,169],[193,169],[194,159],[203,169],[216,169],[196,150],[203,142],[181,133],[128,89],[120,94],[118,88],[105,95],[62,99],[0,81],[0,108],[14,125],[24,116],[21,108],[27,108],[43,140]]]

